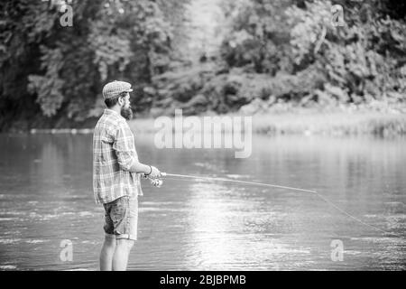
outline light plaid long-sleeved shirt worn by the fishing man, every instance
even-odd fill
[[[93,192],[97,203],[142,196],[140,174],[128,172],[138,155],[125,118],[105,109],[93,134]]]

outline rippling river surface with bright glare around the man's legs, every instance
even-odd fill
[[[153,147],[162,171],[267,182],[322,193],[364,222],[406,228],[406,140],[255,136],[253,154]],[[92,194],[92,135],[2,135],[0,270],[95,270],[103,210]],[[134,270],[405,269],[404,238],[348,219],[306,192],[168,178],[143,183]],[[71,240],[72,262],[60,260]],[[331,241],[344,260],[331,259]]]

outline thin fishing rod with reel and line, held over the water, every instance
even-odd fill
[[[151,183],[153,186],[161,188],[162,185],[162,180],[160,178],[150,178],[148,176],[144,176],[147,179],[150,179]],[[401,235],[391,233],[388,231],[383,230],[382,228],[375,227],[371,224],[365,223],[362,219],[358,219],[355,216],[351,215],[350,213],[346,212],[346,210],[343,210],[339,208],[334,202],[331,200],[328,200],[326,197],[318,193],[318,191],[312,191],[312,190],[305,190],[305,189],[300,189],[300,188],[294,188],[294,187],[287,187],[287,186],[281,186],[281,185],[276,185],[276,184],[270,184],[270,183],[263,183],[263,182],[249,182],[249,181],[238,181],[238,180],[231,180],[227,178],[218,178],[218,177],[205,177],[205,176],[196,176],[196,175],[185,175],[185,174],[179,174],[179,173],[169,173],[169,172],[161,172],[160,177],[174,177],[174,178],[180,178],[180,179],[193,179],[193,180],[206,180],[206,181],[212,181],[212,182],[234,182],[234,183],[242,183],[242,184],[248,184],[248,185],[255,185],[255,186],[263,186],[263,187],[269,187],[269,188],[277,188],[277,189],[283,189],[283,190],[291,190],[291,191],[302,191],[302,192],[309,192],[312,193],[321,200],[324,200],[326,203],[328,203],[330,206],[341,212],[342,214],[346,215],[346,217],[350,219],[354,219],[358,223],[368,227],[368,228],[373,228],[376,231],[379,231],[384,234],[389,234],[398,238],[404,238]]]

